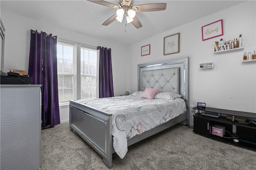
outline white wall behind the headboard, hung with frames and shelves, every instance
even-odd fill
[[[208,107],[256,113],[256,61],[241,62],[244,51],[253,53],[256,47],[255,7],[255,1],[244,2],[134,43],[128,90],[137,91],[137,64],[189,56],[190,106],[205,102]],[[202,41],[201,27],[221,19],[224,35]],[[163,55],[164,37],[175,33],[180,33],[180,53]],[[243,34],[244,50],[213,53],[214,41],[238,38],[239,34]],[[148,44],[151,54],[141,57],[140,47]],[[213,62],[214,68],[199,69],[200,63],[208,62]]]

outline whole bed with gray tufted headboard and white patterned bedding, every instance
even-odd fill
[[[111,100],[112,106],[104,106],[104,104],[100,103],[106,103],[105,98],[94,99],[90,101],[70,100],[70,130],[75,131],[78,135],[80,135],[80,137],[82,137],[84,141],[86,141],[96,152],[98,152],[98,154],[100,154],[100,156],[102,156],[104,164],[106,164],[108,168],[112,168],[112,153],[118,151],[117,154],[120,156],[119,150],[116,149],[116,141],[118,140],[116,140],[117,133],[115,129],[118,129],[119,131],[125,131],[124,133],[126,140],[124,140],[125,146],[121,148],[122,150],[134,143],[137,143],[138,141],[146,139],[147,137],[150,137],[160,131],[163,131],[164,129],[176,125],[177,123],[189,123],[189,101],[187,84],[188,57],[173,59],[169,61],[139,64],[138,92],[136,92],[138,95],[136,95],[136,93],[133,93],[129,96],[118,96],[110,98],[108,100]],[[128,106],[126,106],[125,104],[120,104],[120,106],[122,106],[122,110],[117,110],[116,114],[114,113],[114,110],[119,106],[117,106],[117,104],[114,102],[120,99],[124,102],[126,101],[127,103],[130,102],[131,104],[131,100],[135,100],[135,98],[137,98],[139,101],[144,102],[144,99],[140,98],[139,93],[143,92],[146,88],[159,89],[159,94],[163,92],[172,92],[175,94],[182,95],[181,98],[175,98],[169,101],[170,103],[174,102],[176,105],[182,105],[183,102],[185,103],[185,109],[178,109],[178,112],[180,113],[178,113],[176,117],[168,121],[166,120],[166,117],[170,118],[171,116],[169,117],[165,115],[162,116],[163,119],[157,118],[157,122],[159,122],[158,125],[152,125],[152,127],[148,128],[147,131],[143,130],[143,133],[140,127],[141,124],[138,123],[142,120],[134,124],[131,122],[129,124],[127,120],[127,123],[130,126],[128,126],[127,124],[126,130],[122,129],[122,122],[125,119],[123,114],[124,112],[126,112],[126,109],[128,110]],[[162,103],[159,104],[160,100],[161,102],[164,102],[164,100],[156,100],[154,99],[149,102],[153,103],[153,105],[156,106],[156,108],[158,108],[158,113],[160,113],[161,111],[166,114],[170,112],[170,109],[167,110],[167,112],[163,111],[165,107],[163,107]],[[179,102],[181,102],[181,104],[178,104]],[[140,108],[139,103],[134,103],[131,105],[134,105],[137,108],[138,113],[140,112],[141,109],[138,109]],[[131,105],[129,107],[132,107]],[[111,107],[114,107],[114,109],[110,109]],[[120,114],[118,112],[120,112]],[[144,111],[142,114],[146,113],[148,113],[148,111]],[[136,129],[137,131],[134,130],[134,132],[132,132],[132,128]],[[131,130],[128,131],[127,129]],[[122,150],[122,152],[124,152],[125,155],[127,150]],[[122,158],[124,155],[120,156],[120,158]]]

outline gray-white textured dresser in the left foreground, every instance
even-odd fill
[[[0,85],[0,169],[39,170],[41,85]]]

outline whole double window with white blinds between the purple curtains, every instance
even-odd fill
[[[80,51],[77,53],[76,51]],[[80,43],[57,42],[59,103],[97,97],[97,50]],[[76,74],[79,73],[80,74]]]

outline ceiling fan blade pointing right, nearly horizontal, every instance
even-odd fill
[[[136,12],[162,11],[166,10],[166,3],[136,5],[132,9]]]

